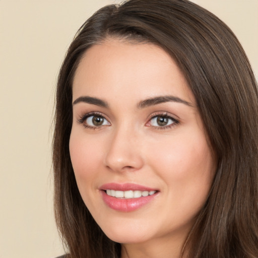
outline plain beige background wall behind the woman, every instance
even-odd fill
[[[0,0],[0,258],[51,258],[63,252],[52,212],[56,76],[77,29],[114,2]],[[258,0],[193,2],[232,28],[257,78]]]

